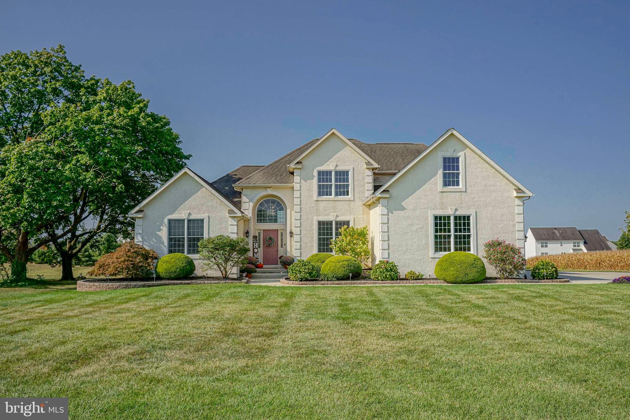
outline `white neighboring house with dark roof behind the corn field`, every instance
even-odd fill
[[[597,229],[575,227],[531,227],[527,230],[525,257],[537,255],[610,251],[608,239]],[[616,247],[615,247],[616,249]]]

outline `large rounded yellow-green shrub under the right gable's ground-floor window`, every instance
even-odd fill
[[[475,254],[455,251],[438,260],[435,276],[447,283],[477,283],[486,278],[486,266]]]

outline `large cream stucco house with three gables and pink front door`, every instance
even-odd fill
[[[496,237],[523,249],[531,196],[454,128],[428,146],[364,143],[332,128],[268,165],[212,182],[186,167],[129,216],[135,242],[197,264],[203,237],[246,237],[254,256],[276,266],[278,256],[331,252],[341,227],[367,225],[372,262],[432,276],[444,254],[481,254]]]

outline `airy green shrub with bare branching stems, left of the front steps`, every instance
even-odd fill
[[[247,263],[249,242],[244,237],[229,237],[217,235],[199,241],[199,257],[206,262],[205,268],[217,270],[223,278],[234,270]]]

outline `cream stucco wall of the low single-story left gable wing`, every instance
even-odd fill
[[[168,253],[166,241],[168,222],[166,219],[169,216],[205,219],[206,237],[230,234],[227,205],[187,173],[181,174],[173,183],[146,203],[142,210],[144,210],[142,217],[137,218],[135,222],[135,242],[154,249],[159,256]],[[239,229],[241,231],[239,234],[242,236],[241,229]],[[219,274],[214,271],[204,271],[201,268],[202,261],[196,256],[191,256],[191,258],[197,266],[195,275],[214,276]]]

